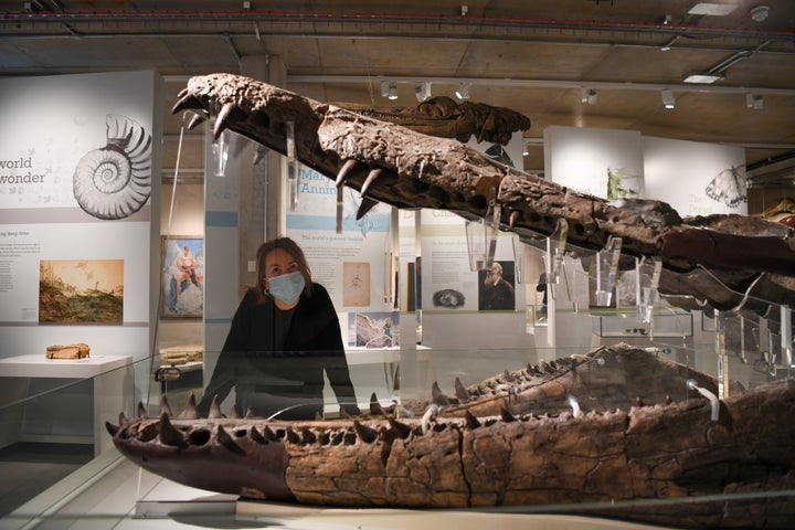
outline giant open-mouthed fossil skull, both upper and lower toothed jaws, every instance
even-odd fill
[[[477,136],[499,141],[527,125],[478,108]],[[215,135],[231,129],[280,152],[293,124],[296,157],[358,189],[360,215],[375,201],[468,219],[497,212],[502,230],[524,239],[549,235],[564,219],[574,248],[600,251],[621,237],[623,252],[660,259],[660,293],[682,305],[748,308],[753,297],[751,309],[767,314],[795,301],[795,237],[783,225],[739,215],[682,220],[658,201],[607,202],[386,123],[389,113],[374,119],[234,75],[191,80],[174,107],[182,109],[213,118]],[[457,127],[437,129],[465,136]],[[716,389],[689,367],[618,344],[459,383],[455,396],[435,389],[432,403],[386,411],[373,398],[357,418],[226,418],[215,406],[200,420],[191,406],[173,416],[163,401],[158,417],[141,409],[108,431],[153,473],[244,497],[353,507],[587,502],[587,513],[676,527],[787,528],[795,385],[724,400]]]

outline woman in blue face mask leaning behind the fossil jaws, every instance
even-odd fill
[[[312,283],[304,252],[289,237],[263,243],[256,286],[237,307],[199,412],[235,389],[242,413],[284,420],[322,414],[324,370],[340,406],[359,414],[337,311]]]

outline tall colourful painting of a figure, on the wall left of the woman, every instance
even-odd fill
[[[204,240],[163,235],[160,247],[160,316],[201,318],[204,312]]]

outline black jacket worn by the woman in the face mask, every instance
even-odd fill
[[[278,333],[284,346],[275,343],[274,332],[282,314],[272,298],[258,304],[254,289],[245,294],[198,406],[200,414],[206,414],[213,395],[220,403],[233,388],[242,413],[257,402],[256,394],[315,400],[319,405],[315,410],[321,412],[324,369],[340,404],[349,413],[359,412],[339,319],[326,288],[312,284],[311,296],[300,295],[288,330]],[[304,415],[311,417],[309,410]]]

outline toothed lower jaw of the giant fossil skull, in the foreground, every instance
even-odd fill
[[[340,507],[570,505],[677,528],[788,528],[795,383],[733,389],[717,418],[696,388],[711,392],[717,381],[617,344],[496,375],[466,388],[467,403],[453,395],[446,406],[405,403],[431,411],[414,417],[379,407],[314,422],[193,418],[190,405],[184,417],[161,405],[156,417],[120,416],[107,428],[124,455],[152,473],[247,498]],[[676,500],[687,502],[687,516]],[[583,502],[592,505],[577,508]]]

